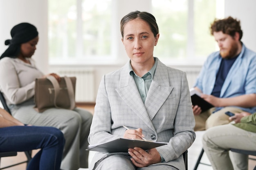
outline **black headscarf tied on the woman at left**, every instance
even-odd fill
[[[11,29],[11,40],[5,40],[4,44],[9,45],[8,49],[2,53],[0,60],[3,57],[16,58],[20,52],[20,44],[29,42],[38,36],[36,27],[32,24],[23,22]]]

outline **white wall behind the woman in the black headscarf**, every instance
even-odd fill
[[[29,22],[39,32],[37,50],[33,56],[38,68],[48,72],[48,11],[47,0],[0,0],[0,53],[8,46],[4,41],[11,39],[12,27],[20,22]]]

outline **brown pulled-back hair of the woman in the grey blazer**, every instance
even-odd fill
[[[134,20],[136,18],[139,18],[147,22],[154,36],[155,37],[157,36],[157,34],[159,33],[159,30],[158,30],[155,17],[148,12],[134,11],[134,12],[128,13],[121,19],[120,29],[121,29],[122,38],[124,38],[124,25],[130,20]]]

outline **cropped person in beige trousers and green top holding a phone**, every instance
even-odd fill
[[[216,126],[204,133],[204,151],[213,170],[248,170],[248,155],[231,152],[234,159],[231,162],[229,150],[256,151],[256,114],[236,113],[229,119],[236,124]]]

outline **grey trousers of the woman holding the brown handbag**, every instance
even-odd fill
[[[43,113],[34,110],[34,102],[11,105],[13,117],[24,124],[52,126],[60,129],[65,137],[65,147],[61,162],[62,170],[88,168],[88,135],[92,123],[92,114],[84,109],[74,110],[50,108]]]

